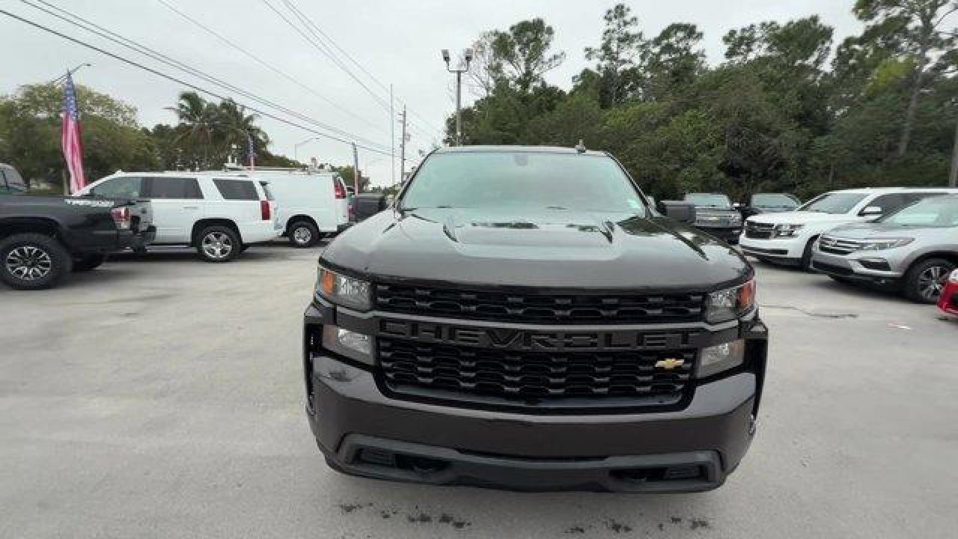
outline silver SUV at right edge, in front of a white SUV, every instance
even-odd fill
[[[896,285],[921,303],[938,300],[956,267],[955,195],[924,199],[874,223],[833,228],[812,251],[812,268],[835,280]]]

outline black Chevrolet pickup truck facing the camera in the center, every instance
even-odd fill
[[[735,250],[604,152],[432,152],[319,259],[307,413],[332,468],[520,490],[718,487],[766,330]]]

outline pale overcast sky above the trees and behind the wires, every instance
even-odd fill
[[[268,61],[298,83],[244,57],[217,37],[206,34],[172,12],[159,0],[48,1],[312,120],[387,148],[390,145],[388,112],[333,60],[309,45],[279,15],[270,11],[265,3],[268,1],[282,9],[292,19],[292,15],[281,8],[282,0],[166,1]],[[565,51],[567,55],[565,62],[547,78],[549,82],[568,88],[572,77],[588,63],[582,49],[598,44],[604,11],[616,3],[614,0],[292,2],[379,82],[395,86],[397,98],[411,109],[410,146],[414,155],[441,141],[439,129],[443,126],[444,117],[454,108],[452,76],[445,72],[440,49],[459,51],[482,32],[506,29],[518,20],[540,16],[556,30],[555,48]],[[785,22],[817,13],[835,28],[837,43],[844,36],[860,31],[860,25],[851,13],[852,4],[852,0],[627,2],[633,14],[639,17],[646,35],[656,35],[673,22],[697,24],[705,34],[704,45],[712,63],[722,59],[721,36],[725,32],[763,20]],[[39,12],[19,0],[0,0],[0,9],[95,43],[127,58],[157,65],[154,61]],[[94,65],[81,70],[76,75],[77,82],[135,105],[140,121],[145,126],[175,122],[172,113],[165,109],[174,104],[177,93],[183,89],[175,82],[160,79],[3,15],[0,15],[0,52],[0,93],[9,94],[22,84],[49,81],[66,69],[88,61]],[[349,60],[343,61],[349,63]],[[388,102],[388,92],[383,87],[350,65],[379,99]],[[195,79],[171,67],[162,66],[160,69],[195,82]],[[209,82],[200,82],[199,85],[221,90]],[[471,97],[464,92],[467,103]],[[246,98],[237,97],[237,101],[253,105]],[[272,152],[293,156],[297,143],[316,136],[269,118],[262,118],[261,123],[272,137]],[[398,140],[399,126],[396,137]],[[315,156],[322,162],[336,164],[352,162],[349,146],[329,139],[302,144],[298,156],[301,160]],[[372,176],[374,184],[390,183],[388,154],[360,150],[359,158],[360,168]]]

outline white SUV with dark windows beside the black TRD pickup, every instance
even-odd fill
[[[189,172],[117,173],[76,197],[148,199],[154,246],[194,246],[207,262],[229,262],[283,232],[266,180]]]

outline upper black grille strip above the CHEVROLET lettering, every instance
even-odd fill
[[[383,311],[548,324],[692,322],[702,318],[703,299],[701,293],[550,295],[376,286],[376,306]]]

